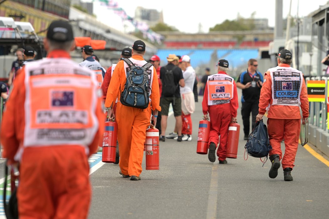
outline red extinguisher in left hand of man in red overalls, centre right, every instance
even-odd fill
[[[197,154],[208,154],[209,132],[210,121],[201,120],[199,122],[198,142],[196,146]]]

